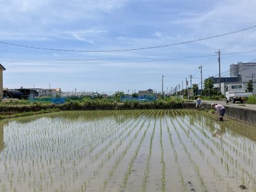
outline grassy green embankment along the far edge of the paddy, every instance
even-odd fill
[[[72,110],[168,109],[175,108],[175,106],[179,106],[183,102],[189,102],[189,100],[170,97],[153,100],[151,102],[134,100],[133,102],[125,101],[121,103],[111,99],[84,98],[82,100],[69,100],[64,104],[51,104],[51,102],[29,102],[29,100],[10,99],[0,102],[0,109],[2,113],[14,114],[0,115],[0,119]]]

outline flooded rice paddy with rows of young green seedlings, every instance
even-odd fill
[[[0,190],[256,191],[255,127],[217,120],[185,109],[1,120]]]

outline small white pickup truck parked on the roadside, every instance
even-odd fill
[[[243,103],[249,95],[252,95],[252,92],[245,92],[243,84],[228,84],[226,90],[226,102],[240,101]]]

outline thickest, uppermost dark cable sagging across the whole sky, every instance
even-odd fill
[[[220,37],[220,36],[230,35],[230,34],[233,34],[233,33],[239,33],[241,31],[246,31],[248,29],[253,29],[255,27],[256,26],[252,26],[250,28],[245,28],[245,29],[240,29],[240,30],[237,30],[237,31],[232,31],[230,33],[223,33],[221,35],[209,36],[209,37],[206,37],[206,38],[199,38],[197,40],[190,40],[190,41],[187,41],[187,42],[180,42],[180,43],[176,43],[176,44],[167,44],[167,45],[159,45],[159,46],[152,46],[152,47],[141,47],[141,48],[134,48],[134,49],[117,49],[117,50],[89,51],[89,50],[53,49],[53,48],[45,48],[45,47],[33,47],[33,46],[27,46],[27,45],[11,44],[11,43],[8,43],[8,42],[0,42],[0,44],[12,45],[12,46],[16,46],[16,47],[24,47],[24,48],[29,48],[29,49],[41,49],[41,50],[47,50],[47,51],[64,51],[64,52],[138,51],[138,50],[145,50],[145,49],[157,49],[157,48],[161,48],[161,47],[170,47],[170,46],[173,46],[173,45],[188,44],[188,43],[192,43],[192,42],[199,42],[199,41],[202,41],[202,40],[207,40],[207,39],[216,38],[216,37]]]

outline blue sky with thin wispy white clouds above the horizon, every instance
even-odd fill
[[[1,1],[0,42],[75,51],[154,47],[256,25],[256,1]],[[63,91],[161,92],[192,75],[192,84],[237,61],[256,59],[256,28],[209,40],[138,51],[72,52],[0,44],[3,86]],[[236,40],[234,42],[234,40]],[[252,52],[248,52],[252,51]],[[236,53],[239,52],[239,53]],[[232,54],[230,54],[232,53]],[[236,53],[236,54],[234,54]],[[228,73],[225,74],[228,76]],[[190,80],[190,79],[189,79]],[[190,81],[189,81],[190,84]],[[199,84],[199,87],[201,85]]]

